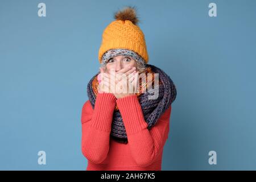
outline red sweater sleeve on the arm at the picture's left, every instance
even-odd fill
[[[108,155],[116,100],[112,93],[98,93],[94,110],[89,100],[82,106],[82,154],[95,164],[103,162]]]

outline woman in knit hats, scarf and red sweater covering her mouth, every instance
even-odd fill
[[[146,43],[137,23],[134,7],[126,7],[103,32],[100,72],[88,83],[89,100],[81,114],[86,170],[161,170],[176,88],[166,73],[147,64]],[[146,82],[140,81],[141,75]],[[119,90],[127,85],[132,92],[111,89],[119,82]]]

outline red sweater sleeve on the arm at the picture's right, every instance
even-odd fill
[[[136,95],[117,99],[123,118],[131,154],[138,165],[146,166],[160,154],[170,130],[171,106],[150,130],[144,121],[141,105]]]

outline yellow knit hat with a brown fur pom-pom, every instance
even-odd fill
[[[124,48],[137,52],[148,62],[146,41],[134,7],[126,7],[114,15],[115,20],[110,23],[102,34],[102,42],[98,51],[98,60],[101,63],[102,56],[109,49]]]

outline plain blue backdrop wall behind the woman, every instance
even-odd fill
[[[38,4],[46,3],[46,17]],[[217,4],[217,17],[208,15]],[[101,35],[137,6],[149,64],[175,82],[163,170],[256,169],[256,1],[1,1],[0,169],[85,170],[81,109]],[[47,164],[38,164],[38,151]],[[217,164],[208,152],[217,152]]]

